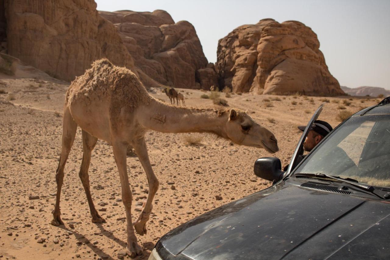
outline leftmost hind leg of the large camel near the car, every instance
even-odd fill
[[[61,187],[64,182],[64,167],[71,150],[74,137],[76,136],[77,124],[74,122],[69,109],[64,108],[64,118],[62,123],[62,148],[60,155],[60,162],[58,163],[57,172],[55,174],[55,180],[57,182],[57,196],[55,199],[55,207],[53,211],[53,220],[51,224],[58,226],[63,225],[60,215],[60,195]]]

